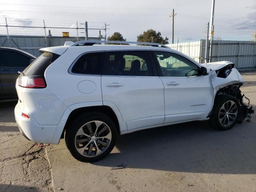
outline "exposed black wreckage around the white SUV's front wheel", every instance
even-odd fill
[[[237,98],[237,100],[240,103],[240,114],[239,114],[239,118],[238,121],[242,122],[245,118],[248,119],[248,121],[250,121],[251,115],[254,113],[254,110],[252,110],[252,106],[250,106],[250,99],[246,96],[244,96],[244,94],[241,94],[241,90],[240,87],[242,86],[242,83],[237,83],[237,84],[232,84],[232,85],[228,85],[222,89],[220,89],[216,95],[220,95],[220,94],[228,94],[228,95],[232,95],[235,98]],[[248,100],[248,104],[245,104],[244,102],[244,98]]]

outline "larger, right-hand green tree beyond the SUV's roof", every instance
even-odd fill
[[[153,41],[152,41],[153,38]],[[158,31],[156,32],[153,29],[149,29],[144,31],[142,34],[137,36],[138,42],[153,42],[153,43],[161,43],[161,44],[168,44],[168,38],[163,38],[161,33]]]

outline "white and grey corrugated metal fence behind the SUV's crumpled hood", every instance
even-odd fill
[[[205,42],[206,40],[179,43],[178,49],[177,44],[169,44],[168,46],[190,56],[197,62],[204,63]],[[210,41],[208,44],[210,44]],[[235,67],[241,71],[256,70],[256,43],[252,41],[214,40],[212,62],[215,61],[234,62]]]

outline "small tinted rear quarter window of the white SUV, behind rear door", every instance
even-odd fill
[[[94,52],[82,55],[72,67],[71,72],[76,74],[100,75],[103,54],[103,52]]]

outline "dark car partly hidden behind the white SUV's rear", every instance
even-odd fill
[[[35,59],[22,50],[0,47],[0,100],[18,98],[15,89],[18,71],[22,72]]]

